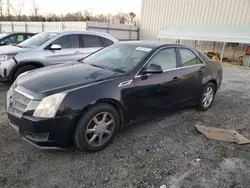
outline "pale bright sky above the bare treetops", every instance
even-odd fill
[[[11,0],[13,7],[18,7],[22,1],[22,13],[30,14],[32,0]],[[141,9],[141,0],[36,0],[36,4],[41,14],[66,14],[87,9],[93,14],[116,14],[121,11],[134,12],[139,16]]]

